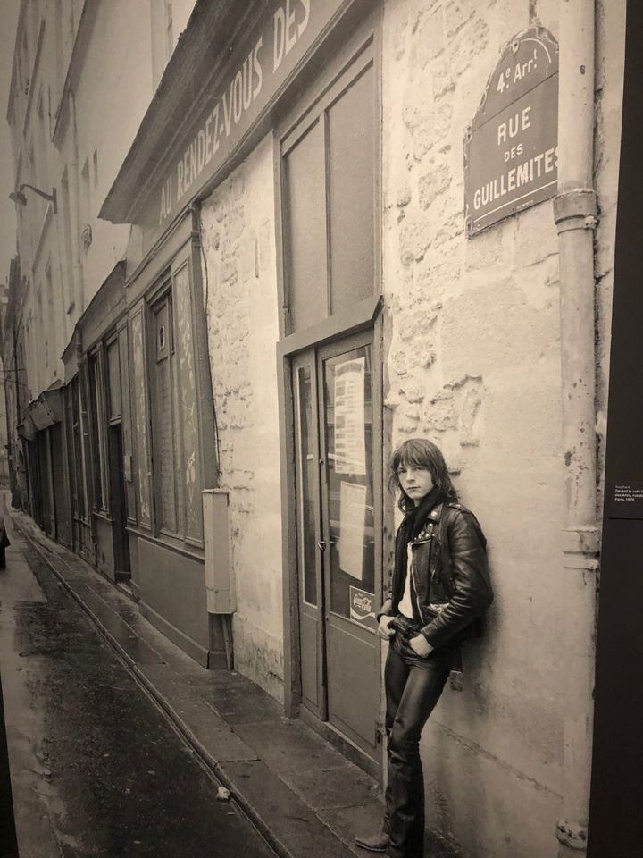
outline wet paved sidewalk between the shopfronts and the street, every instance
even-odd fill
[[[285,718],[280,704],[246,677],[189,659],[126,594],[51,543],[32,519],[10,514],[278,854],[365,858],[353,837],[380,824],[381,796],[372,778],[304,724]]]

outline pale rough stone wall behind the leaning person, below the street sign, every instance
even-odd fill
[[[475,858],[555,855],[562,789],[552,204],[472,240],[463,230],[463,129],[530,14],[558,37],[554,2],[388,0],[384,19],[386,419],[394,444],[426,435],[444,450],[496,591],[465,690],[447,692],[422,740],[428,824]]]

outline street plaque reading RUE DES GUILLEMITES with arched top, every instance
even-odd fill
[[[464,135],[467,234],[555,195],[558,46],[546,29],[513,39]]]

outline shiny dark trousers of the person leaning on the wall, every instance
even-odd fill
[[[413,634],[413,633],[412,633]],[[397,632],[388,647],[384,671],[387,696],[388,785],[384,830],[390,858],[422,858],[424,778],[420,736],[438,702],[451,669],[451,652],[416,655]]]

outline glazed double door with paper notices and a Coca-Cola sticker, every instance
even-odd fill
[[[303,703],[375,758],[381,524],[371,332],[305,352],[293,374]]]

